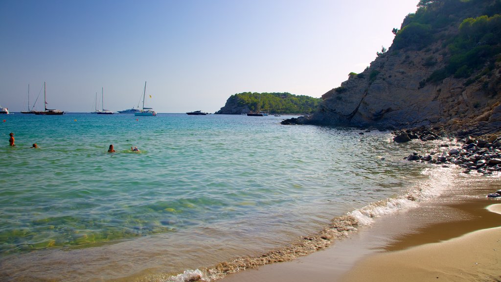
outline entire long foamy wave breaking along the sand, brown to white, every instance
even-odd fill
[[[452,184],[454,173],[451,168],[427,168],[422,174],[427,176],[423,181],[410,183],[399,195],[373,202],[362,208],[335,217],[320,232],[307,235],[300,240],[279,249],[271,250],[255,257],[240,257],[231,261],[220,262],[203,270],[186,270],[184,273],[171,276],[168,282],[214,281],[227,274],[247,268],[256,268],[265,264],[290,261],[330,246],[336,240],[349,237],[360,227],[371,225],[376,218],[395,212],[417,207],[419,202],[437,197]]]

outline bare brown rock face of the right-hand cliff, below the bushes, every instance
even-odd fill
[[[465,11],[462,14],[467,15]],[[444,42],[458,33],[461,21],[458,18],[455,28],[434,35],[435,41],[426,48],[392,46],[379,53],[363,73],[351,74],[340,87],[325,93],[317,112],[300,118],[300,122],[380,129],[427,126],[475,136],[499,132],[499,60],[490,63],[488,72],[485,66],[466,78],[451,75],[427,82],[446,66]]]

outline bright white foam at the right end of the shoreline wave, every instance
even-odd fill
[[[428,179],[411,183],[402,194],[371,203],[349,215],[354,216],[360,225],[370,225],[375,218],[417,207],[419,202],[437,197],[450,187],[454,174],[451,170],[440,167],[426,169],[422,174]]]

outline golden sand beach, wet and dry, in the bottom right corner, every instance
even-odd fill
[[[458,177],[444,195],[379,218],[326,250],[222,281],[500,281],[501,205],[486,207],[501,201],[485,198],[498,189],[497,178]]]

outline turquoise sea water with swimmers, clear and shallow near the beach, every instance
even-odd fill
[[[3,280],[165,280],[283,246],[429,178],[402,161],[421,144],[283,117],[4,119]]]

